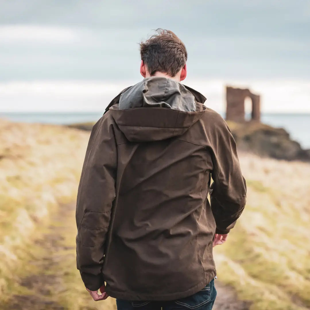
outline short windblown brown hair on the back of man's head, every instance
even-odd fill
[[[140,53],[151,76],[159,71],[174,77],[187,60],[184,43],[172,31],[161,28],[140,43]]]

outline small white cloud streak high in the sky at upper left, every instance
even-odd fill
[[[77,30],[69,27],[4,25],[0,26],[0,42],[73,43],[80,40]]]

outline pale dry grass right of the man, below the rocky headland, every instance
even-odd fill
[[[241,156],[247,205],[215,248],[219,281],[256,309],[310,308],[310,165]]]

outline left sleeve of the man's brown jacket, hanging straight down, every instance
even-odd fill
[[[104,283],[101,269],[115,198],[117,145],[108,114],[93,127],[78,187],[76,223],[77,268],[89,290]]]

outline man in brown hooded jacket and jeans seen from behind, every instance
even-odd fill
[[[206,98],[180,83],[187,51],[174,33],[157,30],[140,52],[143,81],[91,132],[77,266],[93,299],[117,298],[119,310],[211,309],[212,245],[225,242],[246,202],[236,144]]]

